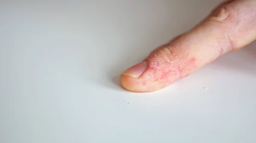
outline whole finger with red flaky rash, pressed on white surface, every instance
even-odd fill
[[[120,83],[132,92],[160,90],[255,39],[256,0],[225,0],[190,31],[125,70]]]

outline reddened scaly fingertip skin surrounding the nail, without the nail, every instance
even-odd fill
[[[136,92],[151,92],[164,88],[197,69],[196,59],[184,53],[181,48],[179,50],[168,45],[148,56],[148,68],[138,79],[121,75],[120,81],[122,83],[122,79],[125,79],[124,87],[135,88]]]

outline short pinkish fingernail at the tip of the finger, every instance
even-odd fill
[[[147,69],[148,69],[148,61],[143,61],[139,64],[136,64],[128,68],[122,73],[122,75],[139,78]]]

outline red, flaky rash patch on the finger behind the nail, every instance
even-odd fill
[[[141,84],[148,89],[152,86],[168,86],[179,79],[189,76],[197,68],[195,58],[179,58],[175,60],[176,62],[165,61],[161,62],[161,64],[157,63],[157,61],[163,60],[153,58],[145,71],[147,76],[142,75],[139,78]]]

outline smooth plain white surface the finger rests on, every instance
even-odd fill
[[[0,143],[255,143],[255,42],[154,93],[119,85],[219,2],[0,2]]]

